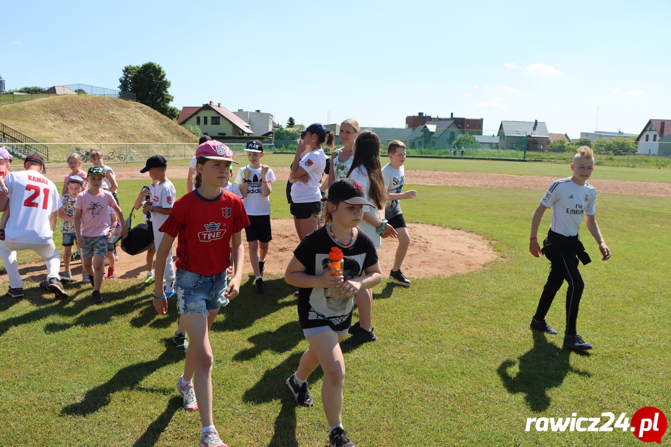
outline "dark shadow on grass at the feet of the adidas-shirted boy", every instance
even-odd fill
[[[263,281],[266,292],[254,292],[254,281],[242,283],[240,294],[228,306],[221,308],[212,330],[231,332],[252,326],[259,318],[264,318],[287,306],[296,306],[296,290],[287,284],[284,278]],[[223,317],[223,318],[222,318]]]

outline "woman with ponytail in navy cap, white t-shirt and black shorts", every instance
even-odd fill
[[[296,145],[291,165],[291,214],[301,241],[317,229],[321,213],[321,176],[326,166],[326,155],[321,149],[325,143],[331,151],[335,143],[333,132],[321,123],[305,129]]]

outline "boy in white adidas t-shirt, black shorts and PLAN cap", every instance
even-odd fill
[[[245,229],[247,243],[250,248],[250,263],[254,270],[254,291],[265,292],[263,284],[263,268],[268,255],[268,243],[272,240],[270,229],[270,193],[272,182],[277,180],[268,165],[261,164],[264,155],[263,143],[258,139],[247,143],[245,148],[250,164],[238,170],[236,184],[240,186],[242,202],[250,219]]]

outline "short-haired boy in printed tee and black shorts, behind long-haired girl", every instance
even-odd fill
[[[401,271],[401,264],[403,264],[403,259],[405,259],[405,255],[408,252],[408,247],[410,247],[410,235],[407,225],[405,225],[399,200],[415,198],[417,191],[409,190],[401,192],[403,184],[405,184],[405,166],[403,166],[403,163],[405,163],[405,144],[403,144],[403,141],[394,140],[389,143],[387,155],[389,155],[389,163],[382,168],[384,186],[386,187],[387,196],[389,196],[384,210],[384,217],[389,220],[389,225],[394,227],[399,235],[399,247],[396,249],[394,267],[391,269],[389,277],[399,281],[401,284],[410,285],[410,279],[407,279],[403,275],[403,271]]]

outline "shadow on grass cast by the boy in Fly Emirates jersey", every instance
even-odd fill
[[[548,389],[562,385],[568,373],[583,377],[591,375],[570,365],[571,350],[548,342],[546,335],[541,332],[531,331],[531,334],[533,334],[533,348],[519,357],[517,375],[513,377],[508,373],[508,370],[515,365],[515,361],[511,359],[503,361],[497,373],[509,393],[523,393],[531,411],[539,412],[550,407]]]

